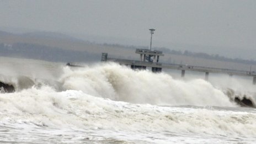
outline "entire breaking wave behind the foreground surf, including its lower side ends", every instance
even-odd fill
[[[47,72],[48,74],[55,72],[54,69],[48,71],[50,71]],[[139,104],[198,106],[236,106],[238,104],[255,107],[253,93],[238,93],[231,88],[215,88],[203,79],[183,81],[174,79],[167,73],[133,71],[115,63],[83,68],[66,66],[59,71],[61,71],[60,76],[50,79],[0,75],[0,82],[6,84],[6,89],[13,86],[17,92],[33,86],[50,86],[57,92],[68,89],[82,90],[94,97]]]

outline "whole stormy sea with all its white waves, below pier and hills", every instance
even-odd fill
[[[252,78],[205,81],[116,63],[0,61],[0,143],[256,141]]]

